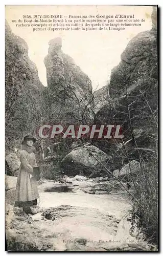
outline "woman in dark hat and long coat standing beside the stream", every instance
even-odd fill
[[[15,206],[22,207],[27,214],[37,212],[37,199],[39,198],[37,189],[37,178],[35,176],[35,167],[38,169],[35,157],[35,148],[33,144],[36,139],[28,135],[22,141],[22,150],[20,151],[20,169],[16,184]],[[42,159],[43,151],[41,150]]]

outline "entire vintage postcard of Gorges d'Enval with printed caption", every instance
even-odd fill
[[[158,251],[157,6],[6,5],[6,250]]]

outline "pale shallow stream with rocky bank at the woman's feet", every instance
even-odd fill
[[[13,207],[14,188],[6,193],[9,251],[151,250],[142,234],[136,238],[136,229],[130,232],[131,204],[125,192],[106,194],[102,190],[106,181],[90,179],[74,180],[75,184],[39,183],[39,212],[34,216]],[[90,189],[94,194],[89,194]]]

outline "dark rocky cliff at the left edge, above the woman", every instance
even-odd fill
[[[24,39],[5,29],[6,72],[6,146],[16,144],[28,132],[34,132],[34,119],[40,110],[41,84],[36,65],[28,56]]]

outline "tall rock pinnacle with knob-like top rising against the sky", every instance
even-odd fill
[[[47,93],[63,111],[62,120],[87,123],[92,119],[92,86],[89,77],[62,52],[60,37],[49,41],[48,55],[44,58],[48,82]]]

